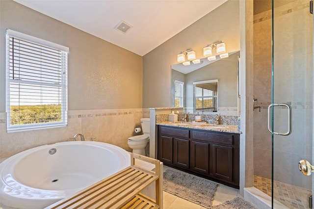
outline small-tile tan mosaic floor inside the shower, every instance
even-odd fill
[[[271,196],[271,179],[254,176],[254,187]],[[274,181],[274,199],[289,209],[308,209],[311,190]]]

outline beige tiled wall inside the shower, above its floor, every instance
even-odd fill
[[[300,159],[312,161],[313,92],[309,90],[313,88],[312,36],[302,35],[303,31],[312,32],[312,22],[308,21],[309,3],[301,1],[302,6],[296,6],[298,2],[275,9],[274,102],[292,106],[292,133],[275,137],[274,180],[310,188],[311,178],[301,175],[297,164]],[[284,35],[278,31],[284,31]],[[279,45],[276,42],[279,39],[284,44]],[[300,45],[304,50],[292,51],[292,45]],[[261,112],[254,111],[254,174],[271,179],[271,134],[267,129],[267,105],[271,103],[270,10],[254,15],[254,96],[262,106]],[[274,130],[286,131],[287,109],[276,109],[274,118]]]

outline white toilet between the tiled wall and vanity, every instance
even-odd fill
[[[149,142],[149,118],[141,118],[143,135],[131,136],[128,139],[128,145],[133,149],[133,153],[145,156],[145,147]]]

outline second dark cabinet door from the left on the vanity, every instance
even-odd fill
[[[183,168],[189,168],[190,146],[189,140],[174,139],[174,164]]]

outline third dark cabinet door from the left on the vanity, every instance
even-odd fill
[[[191,169],[200,173],[209,173],[209,144],[191,142]]]

